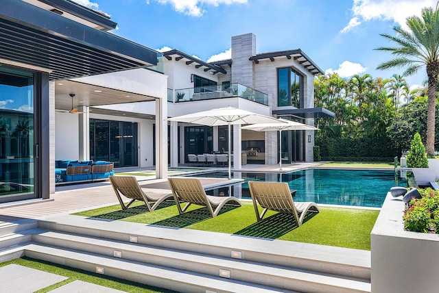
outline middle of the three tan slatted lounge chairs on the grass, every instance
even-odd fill
[[[207,195],[198,178],[168,178],[169,186],[171,186],[172,194],[178,208],[178,213],[184,214],[190,205],[202,205],[209,209],[212,218],[218,215],[219,210],[226,205],[241,206],[242,203],[235,196],[211,196]],[[180,202],[187,205],[180,206]],[[215,208],[215,210],[214,210]]]

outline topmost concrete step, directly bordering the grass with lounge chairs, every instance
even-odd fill
[[[370,281],[370,251],[69,216],[40,228]]]

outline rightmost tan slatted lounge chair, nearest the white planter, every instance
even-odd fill
[[[249,181],[248,187],[258,221],[262,220],[268,209],[271,209],[275,212],[293,214],[297,225],[300,226],[309,210],[319,212],[316,203],[311,201],[294,203],[292,192],[286,182]],[[258,203],[263,207],[261,214],[259,214]]]

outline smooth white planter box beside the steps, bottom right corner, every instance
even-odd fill
[[[437,292],[439,235],[404,231],[403,211],[388,192],[370,233],[372,292]]]

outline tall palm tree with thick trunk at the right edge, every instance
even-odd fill
[[[377,69],[407,67],[403,75],[409,76],[425,66],[428,77],[427,155],[434,155],[434,127],[436,112],[436,86],[439,75],[439,3],[434,8],[423,8],[422,18],[407,18],[408,30],[394,27],[396,36],[381,34],[396,43],[394,47],[379,47],[395,55],[393,60],[379,64]]]

